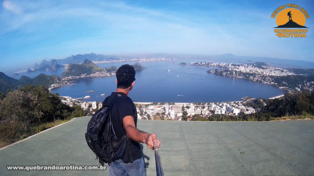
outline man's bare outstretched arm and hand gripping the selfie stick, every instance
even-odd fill
[[[157,142],[158,148],[160,148],[160,141],[157,140],[156,134],[146,133],[138,130],[135,127],[133,116],[125,116],[122,120],[123,127],[127,132],[127,137],[133,139],[136,142],[147,144],[147,147],[154,149],[154,142]]]

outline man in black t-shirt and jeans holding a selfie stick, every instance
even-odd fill
[[[156,134],[145,133],[136,128],[136,106],[128,97],[128,93],[135,83],[134,68],[131,65],[122,65],[116,71],[116,83],[116,92],[112,92],[111,96],[105,99],[105,102],[110,101],[117,94],[121,95],[112,106],[111,120],[116,136],[121,138],[126,134],[130,141],[126,143],[122,158],[116,160],[116,163],[109,163],[109,173],[111,176],[145,176],[144,160],[138,142],[146,143],[148,148],[154,149],[154,142],[157,142],[158,147],[160,147],[160,141],[157,140]]]

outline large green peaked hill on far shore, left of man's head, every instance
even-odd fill
[[[69,64],[65,72],[62,73],[62,76],[80,76],[82,74],[90,75],[102,70],[103,68],[98,67],[92,61],[86,59],[82,64]]]

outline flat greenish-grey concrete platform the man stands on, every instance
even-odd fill
[[[75,118],[0,149],[1,176],[106,176],[105,171],[8,171],[7,165],[99,165],[86,144],[90,117]],[[161,141],[165,176],[314,175],[314,121],[178,122],[138,120]],[[143,145],[147,175],[156,175],[154,151]]]

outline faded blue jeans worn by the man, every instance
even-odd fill
[[[139,158],[133,163],[123,163],[121,159],[109,164],[110,176],[146,176],[144,159]]]

